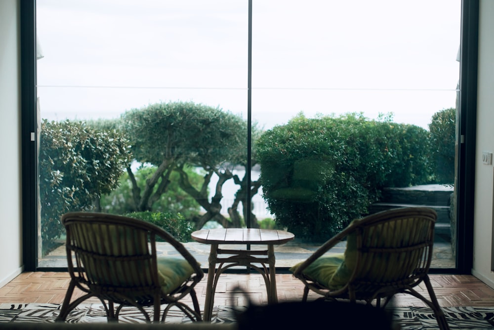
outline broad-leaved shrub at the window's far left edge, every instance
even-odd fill
[[[117,131],[96,131],[82,122],[41,123],[40,201],[43,250],[60,237],[63,213],[91,206],[117,187],[130,161],[128,142]]]

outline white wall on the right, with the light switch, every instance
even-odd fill
[[[480,1],[477,150],[475,166],[474,261],[472,274],[494,288],[494,166],[482,164],[482,151],[494,152],[494,1]]]

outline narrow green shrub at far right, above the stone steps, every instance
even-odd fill
[[[456,109],[436,112],[429,124],[431,158],[438,183],[454,182],[454,141]]]

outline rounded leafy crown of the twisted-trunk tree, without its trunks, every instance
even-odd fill
[[[246,154],[247,123],[219,108],[193,102],[151,104],[122,117],[136,161],[159,166],[165,158],[219,167]],[[245,156],[244,156],[245,157]]]

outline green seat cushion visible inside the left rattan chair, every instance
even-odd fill
[[[194,268],[187,260],[176,257],[158,257],[158,279],[163,293],[178,288],[192,274]]]

